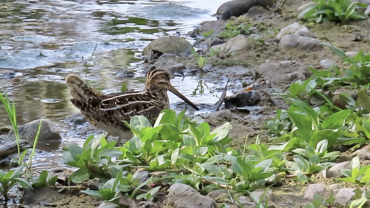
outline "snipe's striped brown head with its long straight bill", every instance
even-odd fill
[[[179,98],[184,100],[186,103],[191,105],[195,110],[199,111],[199,108],[196,107],[195,104],[190,102],[188,98],[186,98],[184,95],[182,95],[179,91],[177,91],[174,87],[172,87],[171,83],[169,82],[169,73],[165,70],[152,70],[149,71],[147,75],[147,82],[145,83],[145,90],[148,91],[155,91],[155,90],[164,90],[164,91],[171,91],[175,95],[177,95]]]

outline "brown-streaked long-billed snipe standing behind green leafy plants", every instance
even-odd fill
[[[171,91],[195,110],[199,110],[184,95],[179,93],[169,82],[169,73],[164,70],[153,70],[147,75],[145,89],[131,93],[113,93],[104,95],[85,84],[80,78],[67,76],[73,99],[71,102],[93,125],[107,131],[111,135],[127,139],[130,134],[128,127],[122,122],[130,121],[134,115],[144,115],[152,123],[159,113],[169,108],[167,90]],[[117,141],[117,144],[120,142]]]

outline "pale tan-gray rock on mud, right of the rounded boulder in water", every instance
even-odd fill
[[[248,51],[253,48],[253,44],[249,43],[247,38],[242,34],[231,38],[226,43],[210,47],[210,50],[219,50],[219,54],[232,53],[236,51]]]

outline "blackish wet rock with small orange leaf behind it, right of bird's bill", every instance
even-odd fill
[[[251,90],[225,97],[225,108],[256,105],[262,100],[258,91]]]

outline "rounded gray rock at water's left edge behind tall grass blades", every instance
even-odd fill
[[[19,136],[28,141],[28,143],[33,144],[36,133],[38,130],[38,125],[40,119],[28,122],[23,126],[18,128]],[[38,137],[38,142],[50,142],[55,140],[61,140],[58,125],[48,119],[43,119],[41,124],[41,130]],[[14,137],[14,131],[9,132],[9,137]]]

